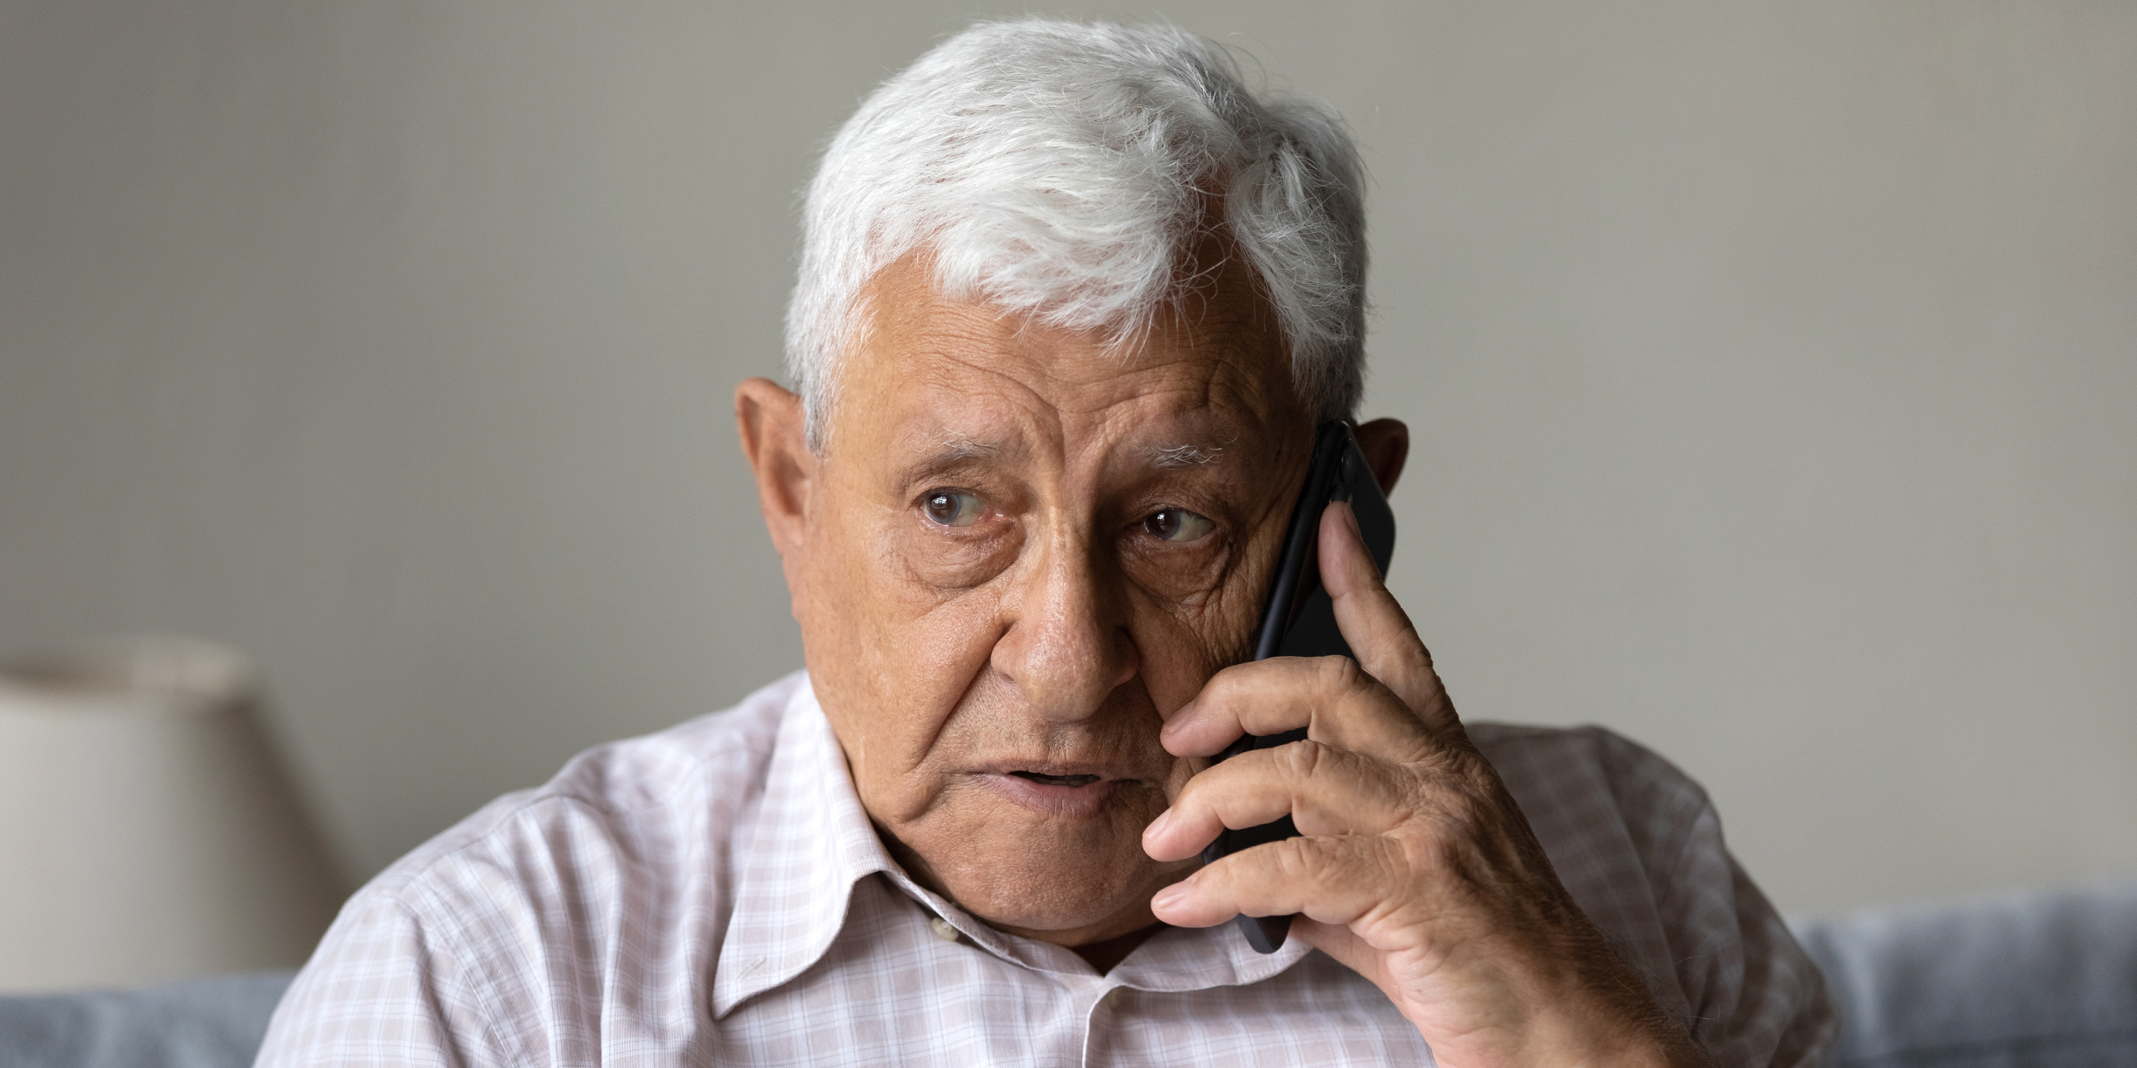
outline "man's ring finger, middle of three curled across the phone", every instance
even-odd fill
[[[1378,835],[1408,820],[1400,767],[1319,741],[1252,750],[1188,780],[1173,807],[1143,829],[1143,852],[1184,861],[1231,827],[1291,816],[1301,835]]]

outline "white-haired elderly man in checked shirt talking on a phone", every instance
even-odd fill
[[[1357,660],[1244,662],[1363,269],[1342,126],[1201,38],[987,23],[887,81],[808,190],[797,393],[735,397],[808,671],[393,865],[261,1064],[1810,1064],[1699,786],[1464,724],[1348,506]],[[1402,423],[1357,440],[1391,487]]]

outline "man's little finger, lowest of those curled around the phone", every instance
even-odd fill
[[[1393,899],[1402,880],[1402,846],[1391,837],[1286,837],[1225,857],[1158,891],[1150,912],[1173,927],[1216,927],[1242,912],[1297,912],[1348,925]]]

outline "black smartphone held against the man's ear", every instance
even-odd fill
[[[1276,579],[1269,581],[1269,596],[1261,609],[1261,632],[1254,637],[1254,660],[1272,656],[1351,656],[1351,645],[1336,628],[1336,604],[1321,587],[1321,513],[1329,502],[1351,502],[1357,513],[1357,528],[1366,534],[1366,549],[1372,551],[1374,566],[1387,575],[1387,560],[1395,551],[1395,513],[1387,508],[1387,493],[1372,476],[1366,453],[1351,434],[1351,423],[1329,421],[1314,431],[1314,455],[1306,468],[1306,487],[1299,502],[1291,506],[1291,525],[1284,528],[1284,547],[1276,557]],[[1284,731],[1282,735],[1242,735],[1216,760],[1239,756],[1248,750],[1267,750],[1299,741],[1306,731]],[[1299,829],[1284,816],[1261,827],[1222,831],[1203,850],[1203,863],[1218,857],[1295,837]],[[1246,933],[1246,942],[1261,953],[1276,953],[1291,929],[1291,916],[1248,916],[1233,923]]]

